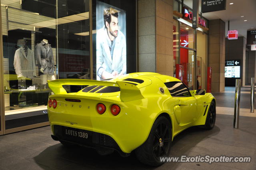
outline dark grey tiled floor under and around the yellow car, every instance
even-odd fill
[[[100,156],[82,147],[65,148],[51,139],[50,126],[0,136],[0,170],[255,170],[256,118],[241,116],[240,128],[231,115],[218,114],[212,130],[193,127],[174,138],[172,156],[250,156],[250,163],[140,164],[136,156]],[[198,165],[197,165],[198,164]]]

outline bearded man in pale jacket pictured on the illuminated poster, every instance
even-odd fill
[[[126,74],[126,40],[118,29],[118,10],[105,8],[104,27],[96,34],[97,80]]]

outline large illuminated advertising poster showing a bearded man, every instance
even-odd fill
[[[126,12],[96,1],[96,30],[97,80],[126,74]]]

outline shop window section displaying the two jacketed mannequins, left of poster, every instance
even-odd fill
[[[0,2],[5,128],[48,122],[48,80],[90,79],[89,0]]]

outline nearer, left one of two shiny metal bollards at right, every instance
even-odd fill
[[[239,127],[241,79],[236,79],[235,109],[234,109],[234,128]]]

